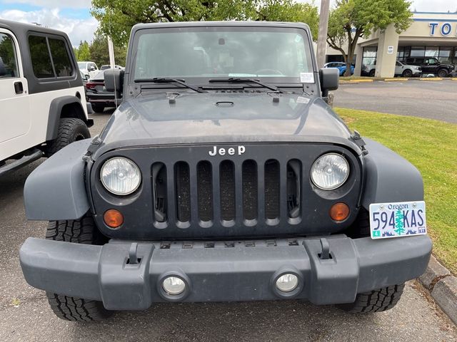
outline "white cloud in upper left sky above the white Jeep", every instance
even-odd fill
[[[69,35],[71,44],[78,46],[80,41],[91,41],[99,23],[96,19],[66,18],[59,9],[41,9],[39,11],[19,11],[15,9],[0,11],[0,18],[22,23],[39,23],[49,28],[64,31]]]

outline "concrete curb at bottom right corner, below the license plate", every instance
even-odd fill
[[[432,255],[426,271],[418,279],[430,291],[436,304],[457,324],[457,278]]]

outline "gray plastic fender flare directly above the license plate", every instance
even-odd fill
[[[379,142],[363,138],[368,155],[363,157],[365,187],[361,204],[423,200],[421,172],[396,152]]]

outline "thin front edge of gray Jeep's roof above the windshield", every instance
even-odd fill
[[[131,29],[132,33],[144,28],[166,28],[166,27],[205,27],[205,26],[256,26],[256,27],[288,27],[304,28],[309,30],[307,24],[298,22],[283,21],[177,21],[174,23],[149,23],[136,24]]]

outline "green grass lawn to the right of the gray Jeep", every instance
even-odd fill
[[[457,274],[457,125],[336,108],[351,130],[381,142],[421,171],[433,254]]]

